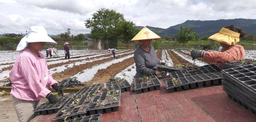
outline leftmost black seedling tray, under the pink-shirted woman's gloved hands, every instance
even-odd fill
[[[38,106],[33,110],[35,116],[57,113],[58,110],[60,110],[66,104],[66,102],[68,102],[68,100],[73,94],[74,93],[65,94],[64,96],[61,96],[60,98],[58,98],[58,103],[52,104],[50,102],[46,102]]]

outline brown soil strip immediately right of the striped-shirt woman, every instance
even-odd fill
[[[193,64],[176,55],[172,50],[167,51],[172,58],[173,66],[178,68],[179,66],[192,66]]]

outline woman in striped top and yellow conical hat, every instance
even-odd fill
[[[164,76],[167,72],[156,70],[156,64],[160,64],[160,60],[156,55],[156,51],[151,45],[153,39],[161,38],[148,28],[144,27],[131,41],[140,41],[140,46],[134,52],[134,61],[136,65],[135,78],[146,77],[150,75]]]

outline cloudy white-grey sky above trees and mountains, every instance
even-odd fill
[[[48,34],[90,33],[84,20],[100,8],[137,26],[168,28],[186,20],[256,19],[255,0],[0,0],[0,34],[44,26]]]

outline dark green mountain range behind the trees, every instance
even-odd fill
[[[193,32],[197,32],[198,36],[210,36],[219,32],[222,27],[230,26],[233,24],[234,26],[241,27],[246,35],[254,34],[256,35],[256,20],[254,19],[229,19],[229,20],[187,20],[184,23],[177,24],[175,26],[170,26],[169,28],[157,28],[146,26],[156,34],[161,37],[166,36],[174,36],[178,33],[180,26],[194,26]],[[138,29],[142,29],[143,26],[135,26]]]

